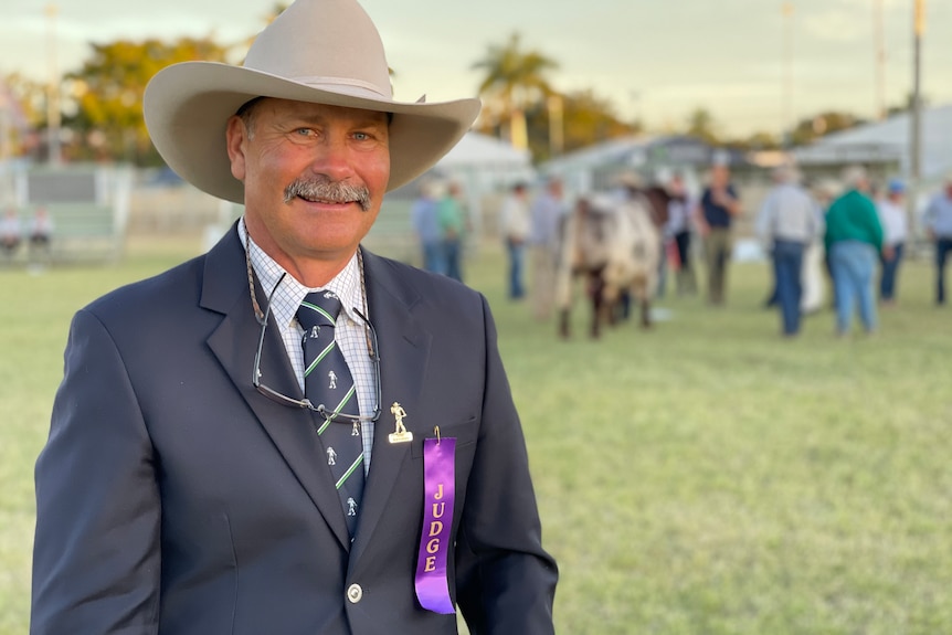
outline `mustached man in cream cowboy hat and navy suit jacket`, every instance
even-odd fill
[[[553,632],[485,298],[359,247],[477,112],[393,102],[353,0],[298,0],[243,67],[152,78],[158,150],[245,215],[75,316],[36,463],[32,633],[443,635],[457,606],[473,633]]]

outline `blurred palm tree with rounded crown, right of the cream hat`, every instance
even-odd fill
[[[505,45],[491,44],[486,56],[473,64],[486,76],[479,84],[479,96],[499,105],[509,119],[509,139],[517,148],[528,147],[526,108],[552,93],[544,72],[559,65],[538,51],[522,51],[519,33],[512,33]]]

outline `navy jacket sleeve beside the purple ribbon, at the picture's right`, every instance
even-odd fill
[[[486,390],[457,543],[457,600],[473,635],[549,635],[558,570],[542,549],[526,442],[485,298],[483,313]]]

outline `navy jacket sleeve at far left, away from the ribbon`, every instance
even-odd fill
[[[152,446],[120,352],[88,311],[73,319],[35,480],[30,632],[156,633],[160,501]]]

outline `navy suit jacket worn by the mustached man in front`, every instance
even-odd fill
[[[352,542],[311,413],[252,385],[234,227],[76,314],[36,462],[31,633],[456,633],[414,592],[436,425],[457,440],[453,600],[474,634],[553,632],[556,564],[485,298],[367,252],[364,266],[384,414]],[[276,328],[262,372],[300,396]],[[388,442],[394,401],[410,444]]]

